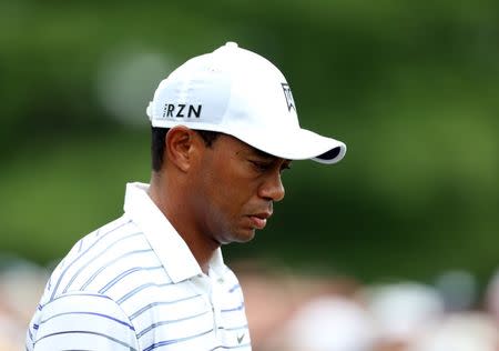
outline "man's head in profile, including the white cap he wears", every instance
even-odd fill
[[[235,43],[173,71],[147,116],[155,183],[164,185],[154,187],[160,208],[181,233],[217,244],[251,240],[265,227],[284,198],[281,173],[291,160],[335,163],[346,152],[343,142],[302,129],[281,71]]]

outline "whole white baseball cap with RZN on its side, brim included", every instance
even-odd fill
[[[153,127],[223,132],[283,159],[336,163],[346,152],[343,142],[301,128],[283,73],[235,42],[174,70],[157,87],[147,116]]]

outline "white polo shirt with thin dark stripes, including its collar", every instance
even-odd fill
[[[81,239],[53,271],[27,350],[251,350],[241,285],[218,249],[204,274],[147,194]]]

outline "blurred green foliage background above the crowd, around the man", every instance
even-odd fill
[[[302,126],[344,161],[295,162],[286,199],[227,261],[365,282],[499,267],[499,2],[2,1],[1,249],[41,264],[149,181],[145,107],[226,41],[268,58]]]

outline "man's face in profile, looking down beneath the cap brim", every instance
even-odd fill
[[[201,151],[192,173],[194,218],[218,243],[246,242],[263,229],[273,202],[284,198],[281,173],[291,161],[221,134]]]

